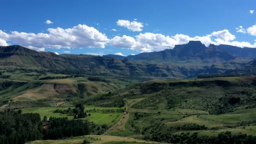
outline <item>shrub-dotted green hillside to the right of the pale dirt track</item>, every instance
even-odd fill
[[[86,98],[86,103],[110,106],[125,101],[127,116],[109,135],[148,140],[155,139],[156,131],[255,135],[255,80],[254,76],[154,80]]]

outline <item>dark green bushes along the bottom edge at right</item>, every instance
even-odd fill
[[[198,124],[184,124],[180,127],[166,128],[164,124],[159,122],[153,122],[150,127],[144,131],[144,139],[158,142],[167,143],[256,143],[256,136],[246,134],[232,134],[230,131],[219,133],[217,136],[214,135],[202,135],[197,132],[183,131],[187,130],[205,130],[205,125]],[[181,133],[176,133],[181,131]]]

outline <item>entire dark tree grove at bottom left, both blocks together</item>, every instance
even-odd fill
[[[0,143],[15,144],[41,139],[88,135],[87,123],[67,118],[45,117],[40,120],[38,113],[4,110],[0,112]]]

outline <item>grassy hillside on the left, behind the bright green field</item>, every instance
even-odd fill
[[[0,107],[72,106],[98,93],[136,80],[107,76],[64,75],[34,70],[0,71]]]

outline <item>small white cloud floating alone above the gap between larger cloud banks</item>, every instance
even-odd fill
[[[128,28],[130,31],[133,31],[133,32],[140,32],[143,30],[142,29],[143,23],[137,22],[137,21],[130,22],[128,20],[118,20],[117,25]]]

